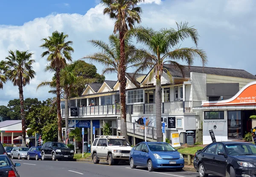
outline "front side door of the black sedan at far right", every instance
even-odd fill
[[[218,155],[218,152],[223,152],[224,154],[227,154],[225,151],[224,146],[221,143],[218,143],[218,146],[215,150],[213,159],[212,159],[212,168],[213,172],[218,175],[226,175],[226,157],[224,155]]]

